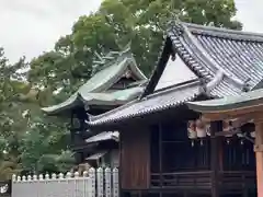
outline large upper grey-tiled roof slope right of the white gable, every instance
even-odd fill
[[[210,81],[224,71],[214,96],[237,95],[263,79],[263,35],[181,22],[171,23],[168,35],[198,77]]]

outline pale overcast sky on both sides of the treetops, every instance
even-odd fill
[[[101,0],[0,0],[0,46],[11,61],[30,60],[70,33],[80,15],[95,11]],[[263,33],[263,0],[236,0],[244,31]]]

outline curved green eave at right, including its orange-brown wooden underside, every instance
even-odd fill
[[[263,109],[263,89],[224,99],[187,102],[188,108],[207,116],[238,116]]]

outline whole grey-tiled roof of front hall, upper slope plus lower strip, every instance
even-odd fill
[[[206,92],[209,96],[239,95],[261,86],[259,84],[263,80],[263,35],[173,21],[168,30],[165,46],[170,45],[169,40],[185,66],[204,80],[205,84],[211,83],[218,73],[222,73],[213,89]],[[160,80],[160,74],[165,68],[164,51],[168,51],[168,47],[164,47],[158,67],[142,93],[142,96],[147,97],[92,117],[89,124],[103,125],[163,111],[198,95],[198,85],[155,93],[158,83],[153,81]]]

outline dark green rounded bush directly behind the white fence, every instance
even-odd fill
[[[45,117],[31,120],[27,131],[21,138],[19,149],[24,171],[65,173],[72,167],[75,160],[68,150],[68,130],[62,121],[53,121],[54,118]]]

